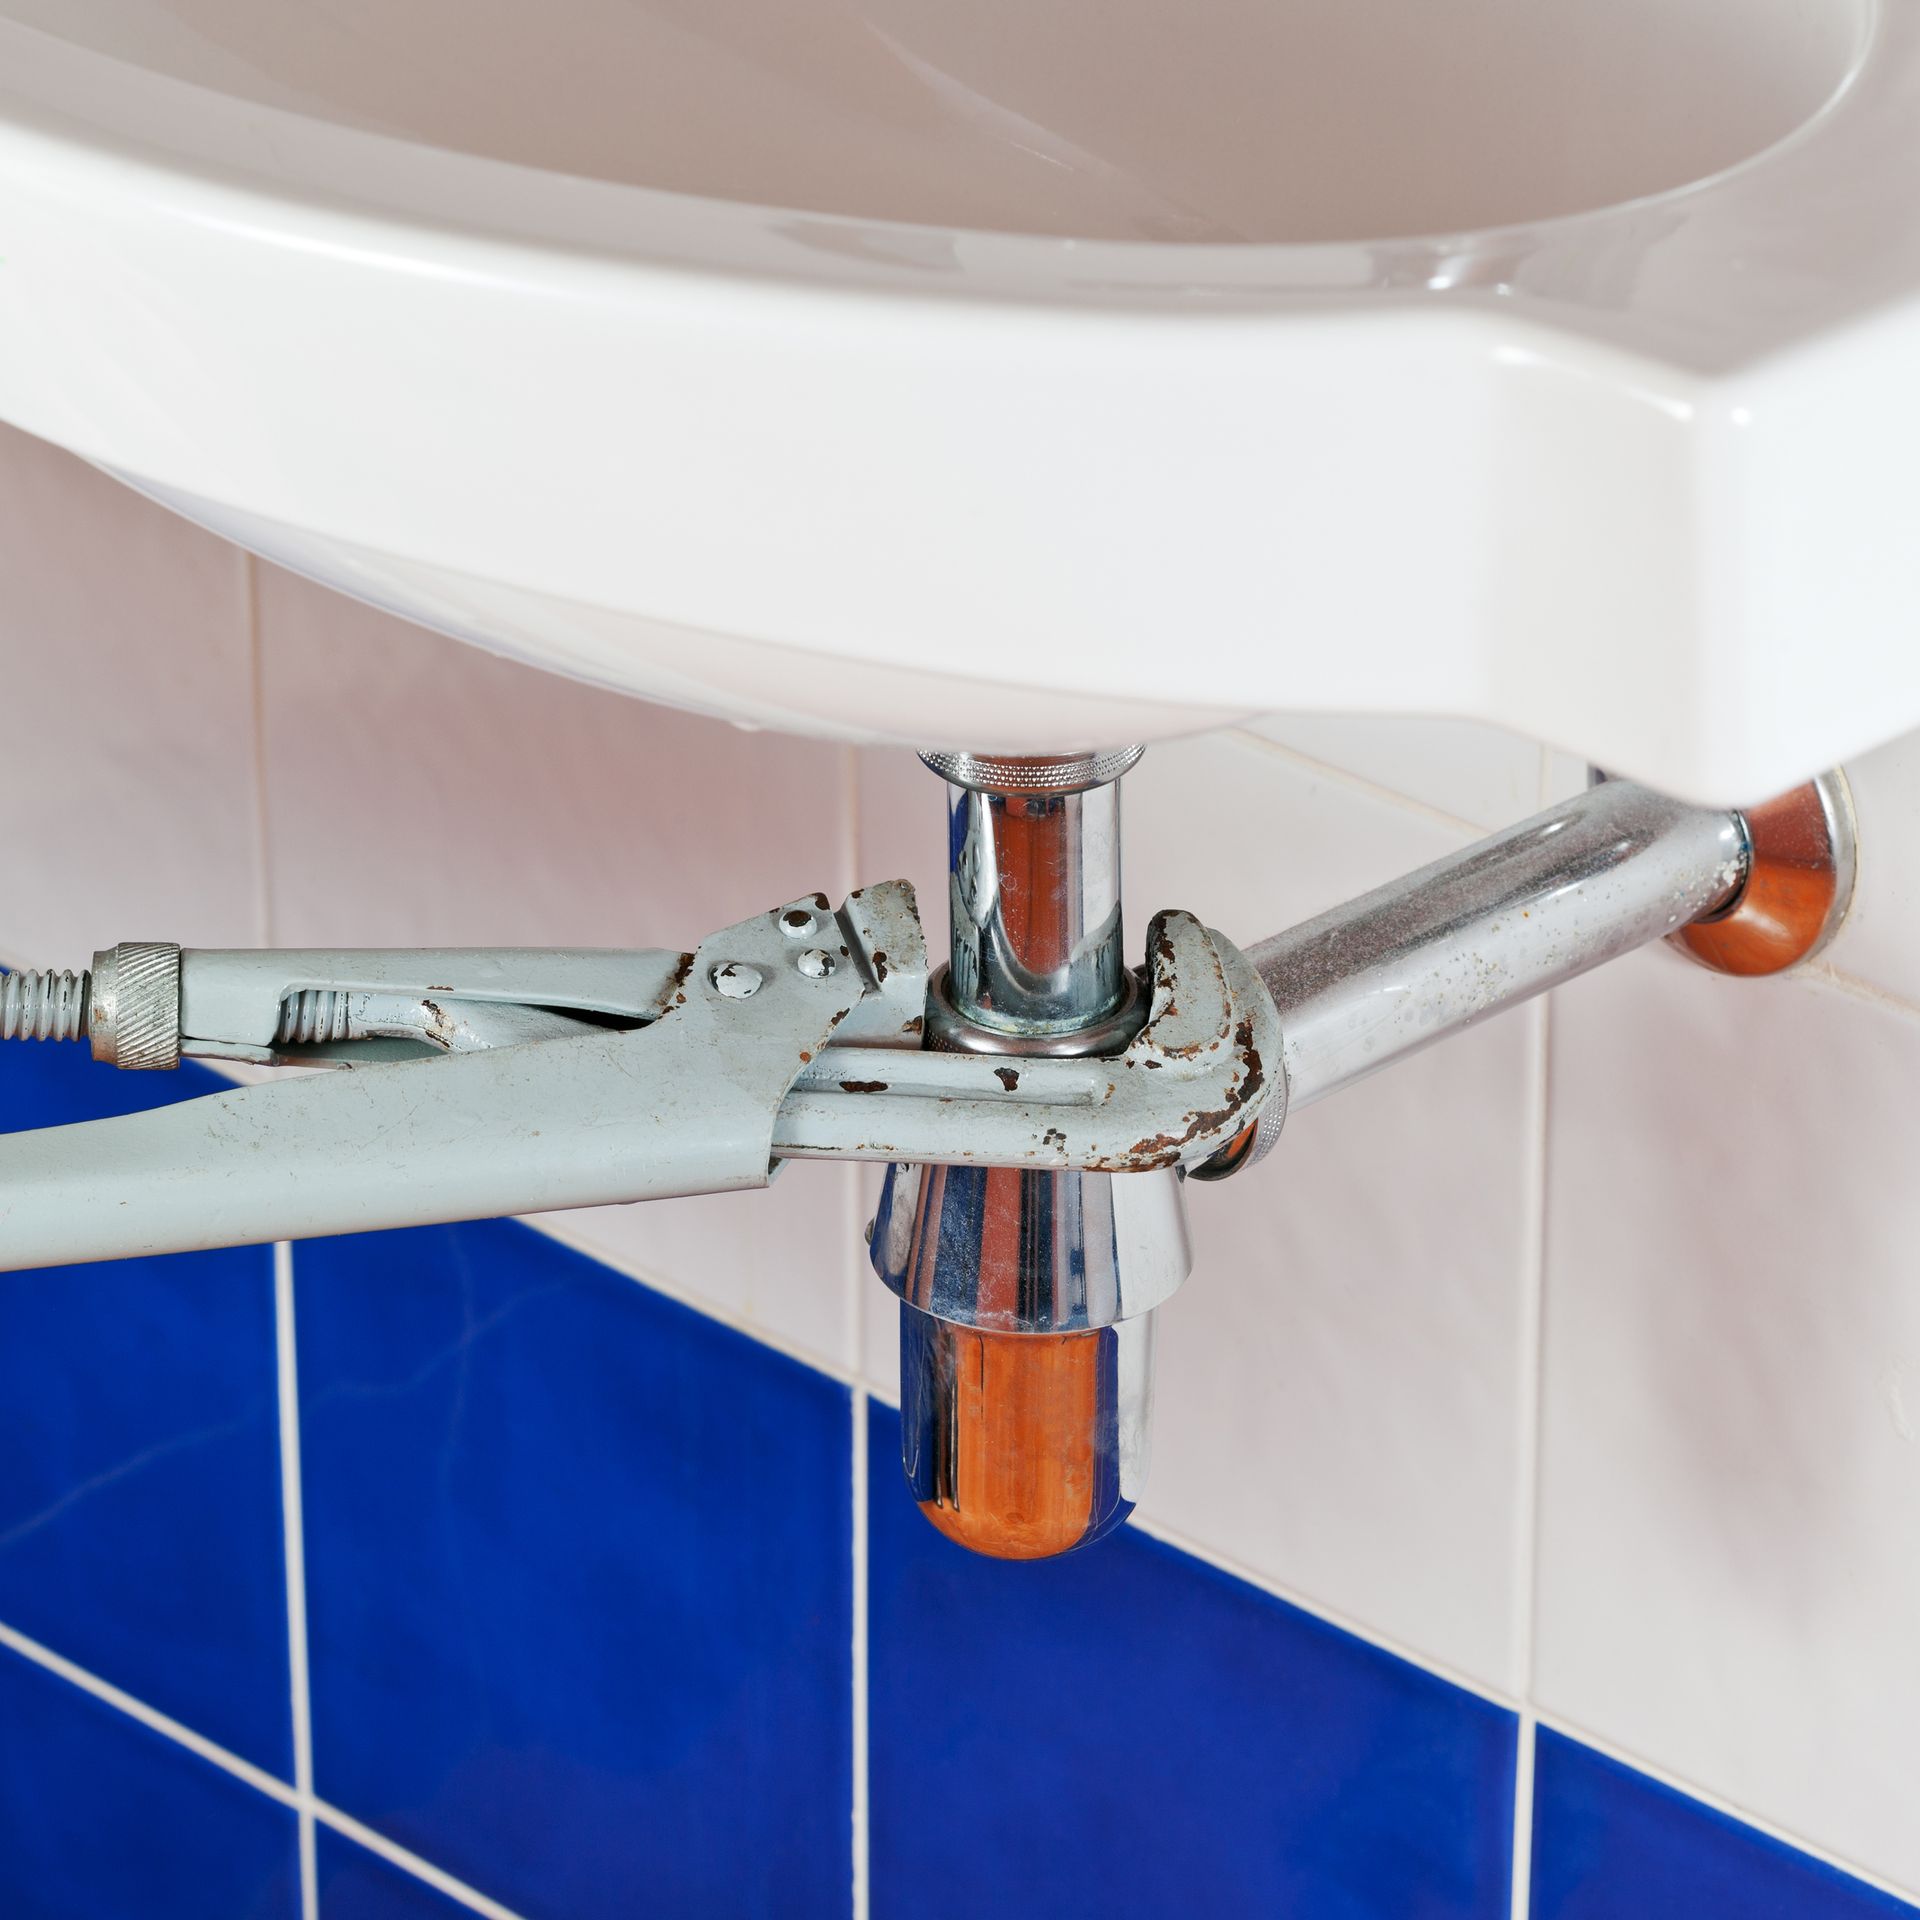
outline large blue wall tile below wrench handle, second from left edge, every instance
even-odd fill
[[[511,1223],[296,1277],[323,1797],[528,1914],[847,1912],[847,1394]]]

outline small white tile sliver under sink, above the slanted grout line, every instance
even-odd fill
[[[1540,810],[1540,747],[1480,720],[1267,714],[1252,732],[1482,829]]]

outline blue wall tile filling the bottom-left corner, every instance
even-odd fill
[[[0,1649],[6,1920],[298,1920],[294,1814]]]

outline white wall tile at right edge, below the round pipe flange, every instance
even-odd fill
[[[1920,1891],[1916,1087],[1832,987],[1561,993],[1536,1688]]]

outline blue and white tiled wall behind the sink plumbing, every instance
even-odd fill
[[[1830,964],[1622,962],[1194,1192],[1150,1496],[899,1480],[864,1175],[0,1277],[0,1914],[1849,1920],[1920,1895],[1920,745]],[[1576,780],[1129,776],[1258,937]],[[682,945],[906,872],[904,755],[419,634],[0,434],[0,958]],[[0,1129],[182,1098],[0,1048]],[[4,1223],[0,1223],[4,1233]]]

